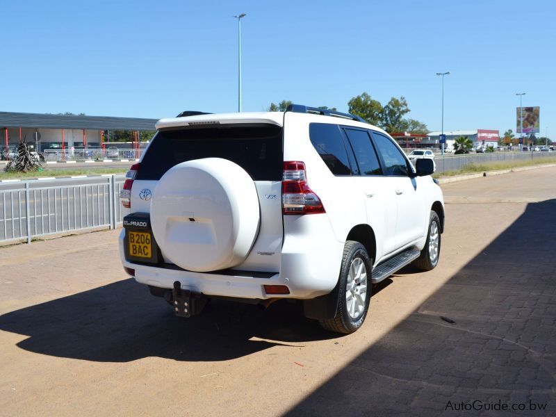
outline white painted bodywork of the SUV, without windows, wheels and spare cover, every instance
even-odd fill
[[[305,164],[307,183],[318,195],[326,213],[282,215],[281,181],[254,181],[261,224],[242,262],[226,274],[131,263],[125,260],[122,231],[122,263],[135,270],[138,282],[172,288],[174,281],[180,281],[182,288],[206,295],[257,299],[276,297],[266,295],[263,285],[286,285],[290,294],[280,297],[309,299],[327,294],[336,286],[345,241],[358,225],[373,229],[375,265],[407,247],[423,249],[432,205],[439,202],[443,207],[441,189],[431,177],[334,176],[309,140],[311,122],[385,133],[382,129],[338,117],[292,112],[179,117],[161,120],[156,126],[161,129],[213,122],[284,126],[284,161]],[[157,182],[136,180],[133,183],[131,212],[151,212],[151,202],[141,200],[138,195],[143,188],[156,193]],[[163,257],[170,261],[164,251]],[[257,277],[250,272],[268,272],[268,276]]]

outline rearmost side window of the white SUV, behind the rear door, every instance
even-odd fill
[[[334,175],[351,175],[350,163],[337,124],[309,124],[309,138],[322,161]]]

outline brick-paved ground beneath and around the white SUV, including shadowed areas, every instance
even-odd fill
[[[439,267],[380,284],[350,336],[289,302],[175,318],[124,275],[118,231],[0,248],[0,415],[556,415],[555,181],[445,184]]]

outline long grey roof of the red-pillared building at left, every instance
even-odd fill
[[[154,131],[158,119],[0,112],[0,127]]]

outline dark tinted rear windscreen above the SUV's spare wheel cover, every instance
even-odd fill
[[[281,181],[282,128],[273,124],[166,129],[156,133],[136,179],[158,180],[181,162],[224,158],[254,181]]]

